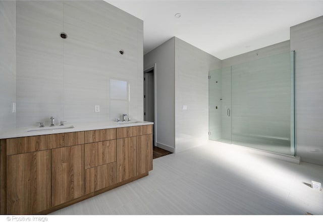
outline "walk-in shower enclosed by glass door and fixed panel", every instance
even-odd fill
[[[209,72],[209,139],[295,156],[294,51]]]

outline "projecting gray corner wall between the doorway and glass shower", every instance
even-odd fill
[[[208,140],[207,76],[210,70],[221,68],[221,60],[173,37],[145,54],[144,69],[155,63],[157,146],[181,152],[205,144]]]

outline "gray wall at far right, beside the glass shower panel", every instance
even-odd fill
[[[323,165],[323,16],[291,27],[296,51],[296,153]]]

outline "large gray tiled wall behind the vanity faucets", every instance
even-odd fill
[[[143,120],[142,72],[142,20],[103,1],[17,2],[17,127]]]

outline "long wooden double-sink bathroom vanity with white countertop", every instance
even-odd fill
[[[47,214],[147,176],[152,124],[1,135],[1,214]]]

